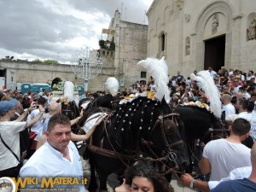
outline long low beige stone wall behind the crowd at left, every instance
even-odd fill
[[[88,84],[89,91],[105,90],[104,82],[108,77],[113,76],[115,68],[113,67],[113,54],[102,55],[102,73],[95,79],[90,79]],[[35,64],[32,62],[18,61],[0,61],[0,69],[6,69],[6,86],[9,89],[10,84],[16,87],[17,84],[47,84],[55,78],[72,81],[74,84],[84,86],[84,79],[81,79],[73,73],[70,65],[59,64]]]

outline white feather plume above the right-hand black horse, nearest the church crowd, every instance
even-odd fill
[[[212,76],[208,71],[201,71],[199,73],[190,74],[191,80],[196,80],[198,82],[198,86],[204,90],[205,95],[210,99],[210,108],[212,113],[220,118],[221,116],[221,101],[220,94],[216,84],[212,79]]]

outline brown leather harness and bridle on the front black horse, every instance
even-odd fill
[[[113,115],[113,113],[110,113],[107,117],[111,117]],[[95,145],[92,145],[92,138],[90,138],[90,144],[88,145],[88,148],[90,149],[90,151],[92,151],[93,153],[96,153],[96,154],[101,154],[103,156],[107,156],[109,158],[113,158],[113,159],[119,159],[125,166],[127,167],[130,167],[129,165],[127,165],[125,163],[124,160],[128,160],[128,162],[130,160],[132,161],[137,161],[137,160],[148,160],[148,161],[158,161],[158,162],[161,162],[163,165],[166,166],[166,164],[163,162],[165,160],[171,160],[173,163],[174,163],[174,167],[168,167],[166,166],[167,170],[166,172],[163,173],[163,175],[166,175],[170,172],[173,172],[173,171],[177,171],[178,169],[178,166],[177,166],[177,154],[172,150],[172,148],[175,148],[177,147],[178,145],[181,145],[181,144],[184,144],[183,140],[180,140],[176,143],[168,143],[167,141],[167,138],[166,138],[166,132],[164,131],[164,119],[166,118],[169,118],[169,117],[172,117],[172,121],[174,122],[175,121],[175,125],[177,125],[178,127],[178,124],[177,124],[177,119],[176,118],[173,118],[174,116],[178,116],[179,114],[178,113],[168,113],[166,115],[163,115],[162,114],[162,111],[160,113],[160,116],[159,118],[156,120],[155,124],[154,124],[154,127],[151,131],[151,134],[150,134],[150,137],[154,131],[154,129],[157,127],[157,125],[160,124],[160,130],[161,130],[161,135],[163,137],[163,140],[164,140],[164,143],[166,145],[166,148],[167,148],[167,151],[168,153],[166,154],[166,156],[164,157],[158,157],[157,154],[154,153],[153,149],[150,147],[150,146],[153,146],[154,143],[150,142],[150,141],[146,141],[142,138],[142,143],[144,145],[147,146],[148,150],[150,151],[150,153],[155,157],[155,158],[152,158],[152,157],[143,157],[143,156],[137,156],[137,155],[131,155],[131,154],[122,154],[122,153],[119,153],[115,150],[115,148],[113,148],[113,144],[111,143],[110,141],[110,138],[109,138],[109,135],[108,135],[108,131],[107,131],[107,123],[108,123],[108,118],[106,117],[103,122],[104,122],[104,131],[106,132],[106,135],[107,135],[107,138],[108,138],[108,143],[110,143],[111,145],[111,148],[113,150],[109,150],[107,148],[103,148],[103,140],[104,140],[104,137],[102,138],[102,141],[101,141],[101,145],[100,147],[97,147]],[[110,123],[110,122],[109,122]],[[166,148],[164,149],[164,151],[166,150]]]

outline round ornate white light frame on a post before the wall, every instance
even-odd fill
[[[95,78],[102,72],[102,57],[96,50],[81,48],[78,61],[72,61],[71,68],[73,73],[84,79],[84,90],[87,91],[89,79]]]

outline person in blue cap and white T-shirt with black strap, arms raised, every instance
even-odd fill
[[[16,99],[0,102],[0,177],[17,177],[19,174],[20,160],[20,131],[25,130],[36,123],[44,113],[44,108],[39,107],[40,113],[30,121],[21,122],[26,119],[29,110],[26,110],[15,121],[10,121],[19,109]],[[3,144],[13,151],[14,154]],[[15,155],[19,160],[15,158]]]

